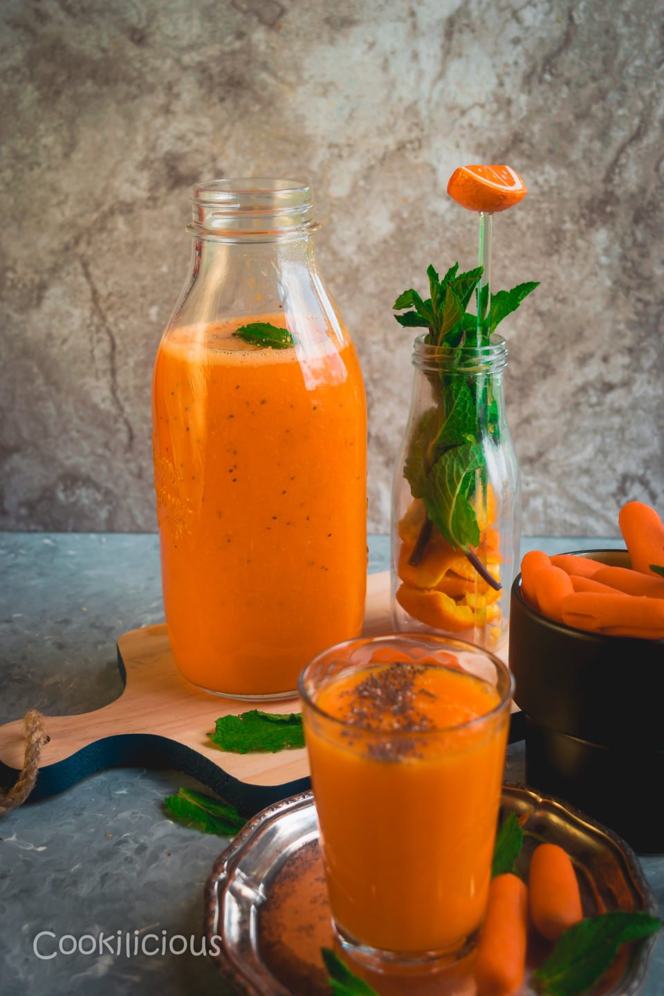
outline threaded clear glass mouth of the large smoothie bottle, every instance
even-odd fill
[[[204,180],[191,189],[192,221],[201,238],[265,241],[315,231],[312,191],[300,180],[243,177]]]

